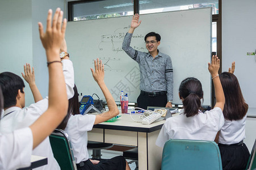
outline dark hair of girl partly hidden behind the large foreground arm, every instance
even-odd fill
[[[80,114],[79,111],[79,101],[78,101],[78,91],[77,91],[77,86],[73,87],[74,90],[74,96],[69,99],[69,108],[68,108],[68,113],[66,114],[64,120],[61,122],[60,125],[58,125],[57,129],[62,129],[65,130],[66,128],[66,124],[68,124],[69,121],[69,117],[71,116],[71,114],[75,115],[75,114]]]

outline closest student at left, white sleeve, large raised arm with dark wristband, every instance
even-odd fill
[[[66,115],[68,98],[58,53],[66,29],[66,19],[61,27],[62,16],[63,12],[57,8],[52,22],[52,10],[49,10],[45,33],[43,25],[39,23],[40,39],[47,54],[49,70],[49,107],[29,128],[0,134],[0,169],[30,166],[32,148],[48,137]],[[0,111],[2,104],[3,96],[0,92]]]

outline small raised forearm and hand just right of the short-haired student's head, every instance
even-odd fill
[[[41,96],[41,94],[36,86],[34,67],[32,67],[32,71],[31,71],[30,64],[26,63],[26,65],[24,65],[24,74],[22,73],[22,76],[23,76],[24,80],[26,80],[28,85],[30,85],[30,90],[33,94],[35,103],[37,101],[42,100],[43,97]]]

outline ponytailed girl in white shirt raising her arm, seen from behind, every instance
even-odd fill
[[[212,56],[208,63],[216,92],[216,104],[211,111],[199,111],[203,99],[202,84],[196,78],[186,78],[179,86],[179,97],[184,109],[179,116],[170,117],[162,126],[156,145],[163,147],[169,139],[194,139],[214,141],[217,132],[224,124],[223,108],[225,97],[221,87],[218,70],[220,59]]]

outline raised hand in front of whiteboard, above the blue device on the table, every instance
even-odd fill
[[[91,73],[93,74],[94,80],[99,84],[101,82],[104,82],[104,64],[102,63],[102,60],[97,58],[97,61],[94,60],[94,68],[91,69]]]

